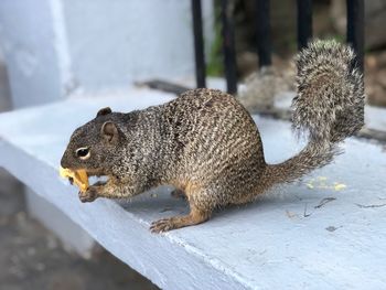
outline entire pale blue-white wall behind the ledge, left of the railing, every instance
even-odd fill
[[[208,49],[213,1],[203,6]],[[190,0],[2,0],[0,44],[15,107],[194,75],[191,14]]]

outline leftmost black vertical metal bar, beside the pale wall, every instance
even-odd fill
[[[192,0],[195,79],[197,87],[205,87],[205,54],[202,25],[201,0]]]

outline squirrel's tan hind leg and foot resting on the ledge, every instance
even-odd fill
[[[212,211],[202,211],[195,206],[191,206],[191,212],[187,215],[172,216],[153,222],[150,230],[152,233],[164,233],[185,226],[199,225],[210,219],[211,213]]]

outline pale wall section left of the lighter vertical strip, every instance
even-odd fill
[[[52,14],[47,1],[2,0],[0,41],[14,107],[61,96]]]

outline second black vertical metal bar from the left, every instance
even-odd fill
[[[237,93],[236,77],[236,51],[235,51],[235,32],[233,23],[233,1],[221,1],[221,14],[223,22],[223,50],[225,63],[225,77],[227,92]]]

